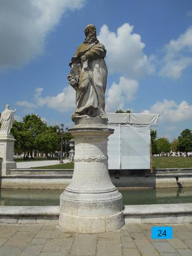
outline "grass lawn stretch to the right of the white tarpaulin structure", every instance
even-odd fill
[[[153,168],[192,168],[192,157],[152,157]]]

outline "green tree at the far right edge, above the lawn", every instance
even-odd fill
[[[185,129],[180,133],[178,137],[178,149],[182,152],[192,151],[192,131],[190,129]]]

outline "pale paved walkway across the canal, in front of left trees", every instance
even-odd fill
[[[69,160],[63,160],[63,163],[68,163]],[[16,168],[32,168],[39,166],[58,165],[58,160],[46,160],[46,161],[29,161],[29,162],[17,162]]]

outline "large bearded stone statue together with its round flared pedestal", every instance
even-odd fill
[[[124,225],[122,195],[108,174],[107,141],[113,133],[105,114],[106,50],[96,27],[85,27],[85,40],[69,66],[69,85],[76,90],[74,172],[60,195],[59,226],[66,232],[106,233]],[[73,152],[74,153],[74,152]]]

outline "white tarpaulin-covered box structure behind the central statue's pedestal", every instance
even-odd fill
[[[107,113],[107,116],[108,126],[114,129],[108,137],[108,169],[150,169],[150,126],[157,124],[158,115]]]

